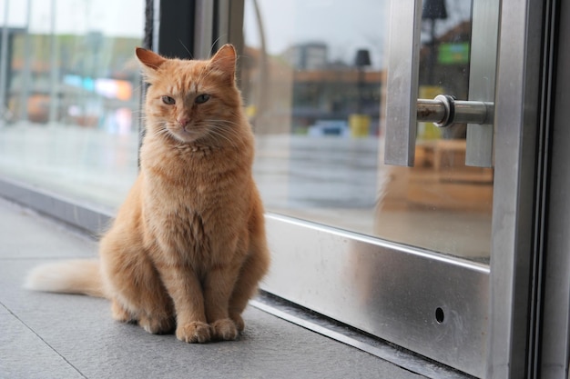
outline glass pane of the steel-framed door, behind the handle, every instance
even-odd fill
[[[445,18],[424,12],[419,97],[466,100],[471,2],[434,3]],[[415,167],[382,163],[388,33],[387,0],[246,1],[241,85],[266,207],[487,261],[493,171],[464,165],[465,125],[418,125]]]

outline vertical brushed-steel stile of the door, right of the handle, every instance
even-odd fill
[[[486,377],[532,374],[541,260],[545,39],[550,2],[503,0],[495,107],[495,182]],[[541,145],[543,144],[543,145]]]

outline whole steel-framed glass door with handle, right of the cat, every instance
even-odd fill
[[[518,13],[500,19],[501,6]],[[241,49],[257,137],[273,254],[262,289],[464,373],[506,363],[516,377],[540,55],[524,64],[540,49],[541,2],[245,0],[213,12],[229,19],[218,44]],[[534,37],[500,39],[501,25]],[[527,91],[509,94],[513,83]]]

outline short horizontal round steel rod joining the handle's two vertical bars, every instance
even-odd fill
[[[416,120],[447,127],[454,123],[491,124],[494,104],[481,101],[455,100],[451,95],[437,95],[433,100],[418,99]]]

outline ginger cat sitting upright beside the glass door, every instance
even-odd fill
[[[27,287],[90,294],[113,317],[179,340],[233,340],[268,270],[254,141],[235,85],[236,52],[208,61],[137,48],[149,84],[140,173],[99,260],[37,267]]]

